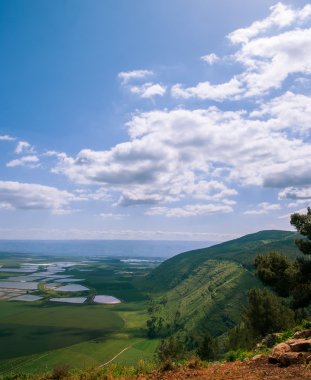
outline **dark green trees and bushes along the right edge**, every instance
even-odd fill
[[[307,214],[295,213],[291,224],[305,238],[295,240],[305,255],[311,254],[311,210]],[[229,347],[249,348],[255,341],[268,333],[285,330],[291,336],[295,324],[309,317],[304,307],[311,302],[311,261],[309,258],[291,259],[284,254],[270,252],[255,259],[256,274],[276,294],[267,289],[251,289],[248,307],[242,322],[229,332]]]

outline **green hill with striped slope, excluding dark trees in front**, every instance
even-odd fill
[[[141,286],[163,299],[159,313],[165,323],[176,315],[189,331],[220,335],[240,319],[250,288],[262,284],[254,276],[256,255],[279,251],[299,255],[289,231],[260,231],[209,248],[184,252],[164,261]]]

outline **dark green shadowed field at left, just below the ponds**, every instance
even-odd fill
[[[101,305],[45,305],[0,302],[0,359],[66,347],[104,338],[122,329],[117,313]]]

